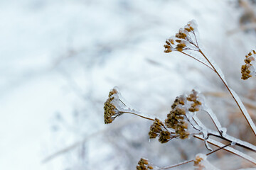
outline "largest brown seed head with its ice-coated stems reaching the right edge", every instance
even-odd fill
[[[206,125],[197,117],[198,113],[208,113],[217,130],[206,128]],[[190,94],[176,97],[164,122],[157,118],[154,120],[149,130],[149,138],[158,137],[159,142],[166,143],[174,138],[184,140],[193,135],[201,135],[206,148],[212,150],[208,145],[208,140],[210,136],[215,136],[256,152],[254,145],[227,135],[226,131],[227,129],[220,125],[213,111],[206,106],[203,95],[196,90],[192,90]]]

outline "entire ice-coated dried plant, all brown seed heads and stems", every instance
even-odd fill
[[[235,103],[240,109],[240,112],[244,116],[245,120],[247,120],[250,130],[252,130],[256,136],[255,123],[253,123],[252,118],[248,114],[242,101],[240,101],[240,98],[235,91],[228,86],[228,83],[225,81],[225,77],[218,65],[215,64],[215,62],[208,57],[203,50],[201,50],[202,48],[198,39],[196,21],[188,22],[184,28],[181,28],[178,33],[176,33],[175,36],[166,40],[164,47],[164,52],[166,53],[181,52],[183,55],[191,57],[213,70],[225,85],[228,93],[233,97]],[[246,56],[245,65],[242,66],[242,79],[248,79],[249,77],[255,76],[255,53],[256,52],[253,50]],[[238,155],[238,157],[242,157],[248,162],[256,165],[256,160],[254,158],[234,148],[236,145],[244,149],[249,149],[252,152],[256,152],[256,146],[228,135],[226,133],[227,129],[220,125],[215,113],[213,113],[213,111],[207,106],[206,99],[203,94],[195,89],[188,94],[176,97],[174,103],[171,105],[171,111],[166,115],[165,120],[161,120],[160,118],[151,118],[148,115],[144,115],[143,113],[132,109],[132,106],[129,106],[124,98],[122,98],[117,87],[114,87],[114,89],[110,91],[109,98],[107,98],[107,101],[105,102],[104,110],[106,124],[112,123],[115,118],[124,113],[137,115],[141,118],[153,121],[149,128],[150,139],[158,138],[159,142],[166,143],[170,142],[174,138],[186,140],[194,137],[203,140],[206,148],[210,150],[208,154],[197,154],[195,159],[165,167],[158,167],[154,164],[149,164],[146,159],[140,159],[137,169],[171,169],[190,162],[194,163],[195,169],[217,169],[215,166],[210,164],[206,158],[208,155],[213,154],[220,149],[224,149],[232,154]],[[198,118],[199,114],[208,114],[213,125],[215,125],[215,130],[207,128],[206,125],[204,125],[204,123]],[[218,142],[213,138],[219,139],[222,142]],[[218,149],[211,149],[209,144],[215,145]]]

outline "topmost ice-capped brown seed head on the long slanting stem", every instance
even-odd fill
[[[196,21],[189,21],[184,28],[178,30],[178,33],[176,33],[175,37],[171,37],[168,40],[166,40],[166,45],[164,45],[164,52],[182,52],[184,50],[198,51],[196,31]]]

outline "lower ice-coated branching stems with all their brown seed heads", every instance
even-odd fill
[[[129,106],[128,103],[124,100],[124,98],[122,98],[120,92],[115,87],[110,91],[109,98],[105,102],[105,123],[112,123],[114,118],[124,113],[134,114],[139,117],[154,121],[154,123],[150,127],[149,138],[158,137],[159,142],[161,143],[169,142],[171,139],[174,138],[180,138],[184,140],[188,137],[193,136],[203,140],[206,144],[207,149],[212,150],[208,146],[209,143],[220,147],[219,149],[225,149],[233,154],[237,154],[239,157],[247,159],[253,164],[256,164],[255,159],[253,159],[252,157],[249,157],[246,154],[243,154],[242,152],[233,149],[232,147],[227,147],[227,145],[223,145],[220,142],[210,139],[210,135],[213,135],[215,137],[220,137],[220,139],[222,140],[230,142],[231,146],[239,145],[247,149],[251,149],[252,151],[256,151],[254,145],[243,142],[242,140],[238,140],[235,137],[231,137],[225,133],[225,128],[221,127],[213,111],[211,111],[210,108],[206,106],[205,98],[203,97],[203,95],[198,93],[198,91],[196,90],[192,90],[189,94],[183,94],[181,96],[178,96],[175,99],[174,103],[171,105],[171,111],[167,115],[167,118],[164,121],[161,121],[157,118],[152,119],[147,117],[146,115],[142,115],[141,113],[134,111],[132,107]],[[198,113],[208,113],[218,131],[206,128],[201,120],[198,119]],[[196,169],[215,169],[215,167],[212,166],[203,157],[198,156],[195,160],[196,161],[194,162]],[[174,166],[180,166],[182,164],[187,164],[188,162],[193,162],[193,160],[182,162]],[[149,164],[146,159],[141,159],[138,162],[137,169],[170,169],[174,166],[159,168],[157,166],[154,166],[153,164]]]

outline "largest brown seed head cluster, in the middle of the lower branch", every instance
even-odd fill
[[[171,106],[171,111],[164,123],[159,119],[154,120],[153,125],[150,127],[149,138],[159,137],[159,142],[161,143],[169,142],[175,137],[179,137],[182,140],[188,138],[191,134],[188,130],[188,125],[191,123],[188,119],[188,114],[199,111],[201,104],[198,92],[195,90],[192,90],[187,97],[185,95],[178,96]]]

